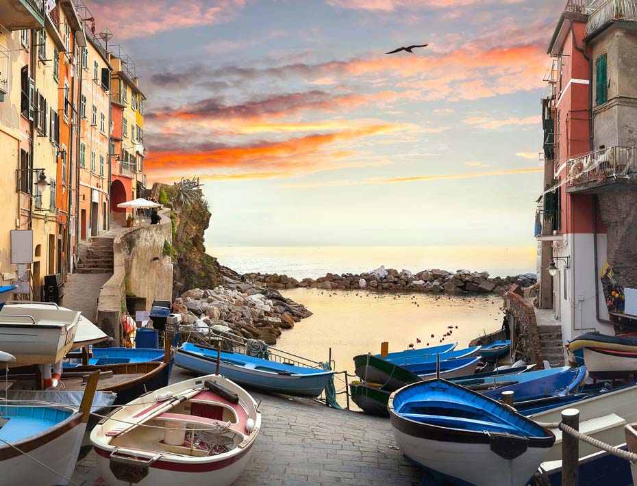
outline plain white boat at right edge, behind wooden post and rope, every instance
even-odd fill
[[[626,442],[624,426],[637,422],[637,386],[627,385],[614,391],[601,393],[593,398],[569,402],[562,407],[529,415],[538,422],[560,422],[564,409],[579,410],[579,431],[595,439],[618,446]],[[554,430],[555,444],[549,450],[546,461],[562,459],[562,431]],[[599,449],[579,442],[579,457],[599,452]]]

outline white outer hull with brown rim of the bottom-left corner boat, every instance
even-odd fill
[[[82,414],[76,413],[46,433],[12,443],[29,456],[45,463],[49,468],[71,478],[86,424],[81,423]],[[0,469],[3,485],[51,486],[67,485],[58,474],[39,465],[33,459],[17,452],[10,446],[0,447]]]

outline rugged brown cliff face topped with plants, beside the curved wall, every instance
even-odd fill
[[[201,190],[199,197],[184,203],[179,201],[174,185],[155,183],[151,197],[172,208],[173,300],[186,290],[216,287],[220,280],[219,264],[205,253],[203,246],[203,233],[212,214],[201,198]]]

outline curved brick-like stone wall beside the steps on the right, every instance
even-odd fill
[[[514,292],[507,292],[507,314],[511,328],[512,359],[536,363],[536,370],[544,369],[540,333],[533,305]]]

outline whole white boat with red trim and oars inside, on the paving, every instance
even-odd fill
[[[175,383],[116,409],[92,430],[109,486],[224,486],[249,465],[261,411],[216,374]]]

